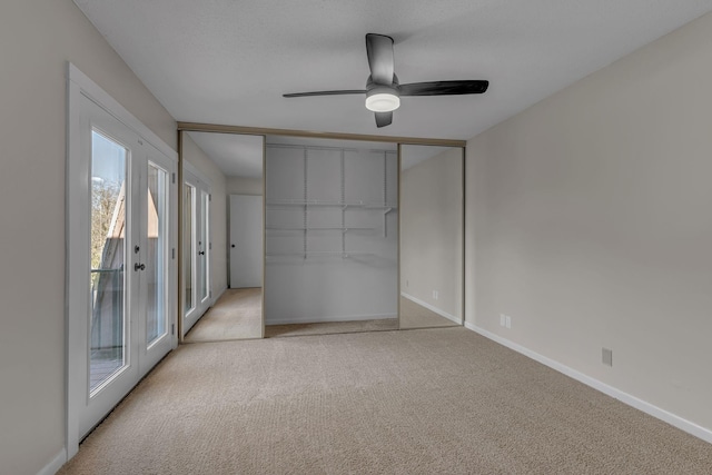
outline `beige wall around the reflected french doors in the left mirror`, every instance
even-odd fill
[[[182,159],[189,161],[211,184],[210,243],[212,243],[212,253],[210,254],[210,288],[212,297],[217,299],[227,288],[226,178],[222,171],[205,155],[188,133],[182,136]]]

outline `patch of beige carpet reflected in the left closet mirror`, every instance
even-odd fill
[[[229,288],[188,331],[185,343],[263,337],[263,289]]]

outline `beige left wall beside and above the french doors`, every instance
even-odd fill
[[[176,123],[71,0],[0,7],[0,472],[65,445],[67,61],[176,146]]]

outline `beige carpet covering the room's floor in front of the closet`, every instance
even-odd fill
[[[712,445],[463,327],[181,345],[68,474],[710,474]]]

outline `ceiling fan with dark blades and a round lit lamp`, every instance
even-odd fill
[[[370,76],[366,89],[348,89],[335,91],[294,92],[284,97],[366,95],[366,108],[376,115],[376,126],[386,127],[393,122],[393,111],[400,106],[402,96],[455,96],[476,95],[487,90],[490,81],[431,81],[398,83],[394,72],[393,38],[385,34],[366,34],[366,53]]]

